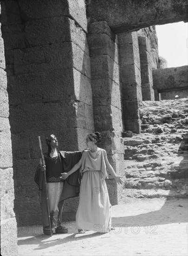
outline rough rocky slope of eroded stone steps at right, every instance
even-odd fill
[[[126,189],[136,197],[188,195],[188,98],[143,101],[142,133],[124,133]]]

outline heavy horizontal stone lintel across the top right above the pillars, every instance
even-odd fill
[[[115,33],[122,33],[187,20],[187,8],[185,0],[91,0],[87,16],[90,22],[105,20]]]

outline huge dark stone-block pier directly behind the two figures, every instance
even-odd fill
[[[15,212],[19,225],[32,225],[41,224],[34,183],[40,158],[37,136],[44,152],[45,137],[52,133],[59,150],[74,151],[86,148],[85,136],[94,131],[87,19],[84,0],[13,2],[3,36],[18,192]],[[75,218],[77,205],[78,198],[66,202],[64,220],[70,220],[69,212]]]

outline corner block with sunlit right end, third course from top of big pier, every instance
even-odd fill
[[[71,42],[65,42],[63,47],[45,45],[14,50],[15,74],[62,72],[72,66],[91,78],[89,56]]]

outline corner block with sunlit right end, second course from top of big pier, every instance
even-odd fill
[[[89,54],[86,34],[81,27],[76,26],[75,20],[68,17],[27,21],[25,34],[29,47],[49,44],[54,48],[63,48],[64,42],[73,42]]]

